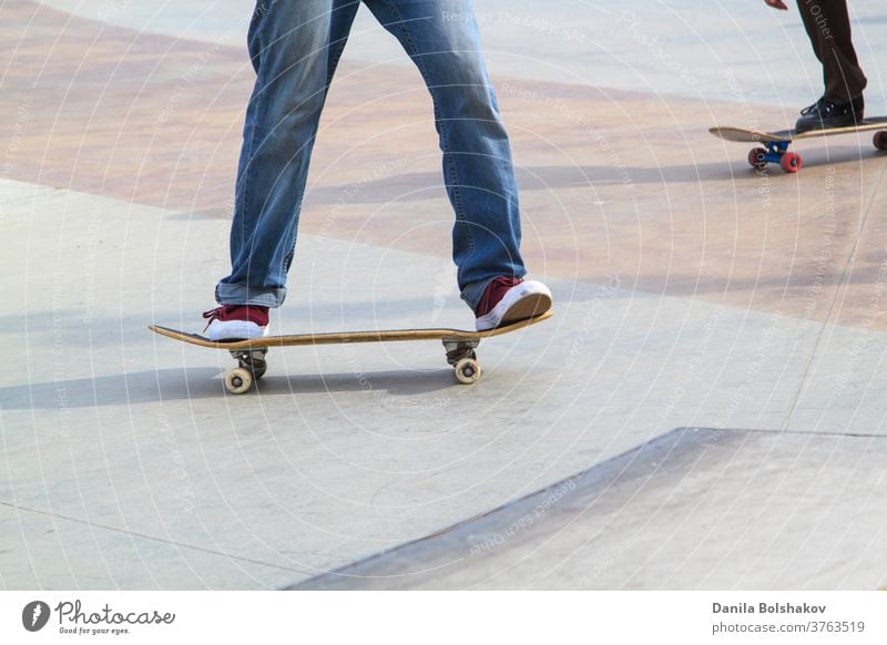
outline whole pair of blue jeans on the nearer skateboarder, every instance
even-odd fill
[[[523,277],[508,135],[480,53],[471,0],[364,0],[431,93],[456,223],[452,257],[475,308],[497,276]],[[246,113],[222,305],[286,297],[320,111],[359,0],[258,0],[249,27],[257,78]]]

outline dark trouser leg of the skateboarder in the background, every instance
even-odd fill
[[[847,103],[863,94],[867,80],[853,47],[846,0],[797,0],[804,28],[823,63],[825,98]]]

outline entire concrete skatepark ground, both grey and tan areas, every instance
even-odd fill
[[[887,583],[887,160],[842,136],[756,174],[706,132],[815,98],[796,16],[755,7],[779,60],[751,9],[742,49],[689,1],[500,4],[481,27],[555,317],[485,342],[470,388],[432,342],[341,346],[272,351],[246,397],[230,357],[146,330],[198,330],[227,269],[245,22],[2,4],[3,588]],[[870,113],[878,8],[853,7]],[[361,20],[272,332],[471,325],[430,101]]]

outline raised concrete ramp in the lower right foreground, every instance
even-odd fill
[[[887,439],[677,429],[293,588],[877,588]]]

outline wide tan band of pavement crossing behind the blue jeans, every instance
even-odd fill
[[[35,7],[7,3],[0,27],[16,43],[0,54],[4,86],[14,90],[1,106],[27,123],[4,176],[227,217],[252,82],[242,49],[140,35]],[[395,69],[346,62],[302,229],[446,255],[439,227],[422,226],[450,217],[430,100],[418,73]],[[887,167],[866,141],[870,133],[805,142],[798,177],[758,176],[745,145],[706,129],[778,126],[791,119],[779,110],[508,79],[498,85],[531,266],[568,279],[619,275],[624,287],[817,321],[830,313],[844,324],[887,322],[867,315],[883,249],[863,249],[863,266],[846,273],[853,297],[833,307],[860,226],[875,231],[887,217],[870,207]],[[3,139],[17,123],[0,126]]]

